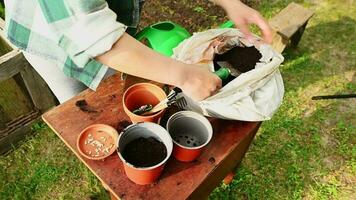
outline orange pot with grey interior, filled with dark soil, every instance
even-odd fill
[[[130,125],[120,134],[117,152],[127,177],[146,185],[161,175],[172,150],[168,132],[157,124],[144,122]]]

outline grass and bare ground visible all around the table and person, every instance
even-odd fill
[[[249,4],[269,18],[289,2]],[[283,54],[284,102],[262,124],[232,184],[216,188],[211,199],[356,199],[356,100],[311,100],[356,93],[356,6],[353,0],[296,2],[316,15],[298,48]],[[190,31],[226,20],[206,0],[146,2],[143,26],[167,19]],[[99,180],[43,123],[0,158],[0,199],[108,198]]]

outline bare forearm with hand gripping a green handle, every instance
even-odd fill
[[[222,84],[221,79],[207,68],[163,56],[127,33],[96,60],[130,75],[179,87],[196,101],[215,94]]]

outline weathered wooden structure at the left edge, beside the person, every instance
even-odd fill
[[[47,84],[4,33],[0,18],[0,154],[31,133],[31,125],[56,105]]]

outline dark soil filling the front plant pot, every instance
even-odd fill
[[[135,167],[151,167],[166,158],[167,149],[153,137],[140,137],[126,145],[122,156]]]

